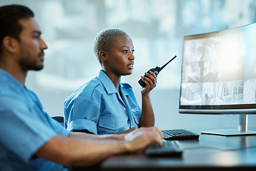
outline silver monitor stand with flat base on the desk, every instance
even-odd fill
[[[240,125],[237,130],[232,129],[219,129],[219,130],[209,130],[202,131],[202,134],[212,134],[212,135],[222,135],[222,136],[235,136],[235,135],[256,135],[256,131],[247,130],[248,116],[240,115]]]

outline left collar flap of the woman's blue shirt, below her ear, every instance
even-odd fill
[[[107,93],[109,93],[109,94],[117,93],[117,89],[114,86],[114,83],[112,83],[112,81],[107,76],[107,74],[104,73],[104,71],[102,71],[102,70],[99,71],[98,78],[100,81],[102,81],[102,84],[103,84],[104,88],[107,90]]]

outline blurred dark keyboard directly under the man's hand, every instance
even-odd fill
[[[182,147],[177,140],[163,140],[162,146],[153,142],[145,148],[148,157],[174,157],[182,155]]]

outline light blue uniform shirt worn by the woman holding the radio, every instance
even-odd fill
[[[65,128],[102,135],[138,127],[142,110],[132,87],[121,83],[120,89],[124,100],[104,71],[99,71],[98,77],[64,101]]]

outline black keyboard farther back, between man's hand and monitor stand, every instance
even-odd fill
[[[189,130],[162,130],[165,140],[197,140],[200,135]]]

